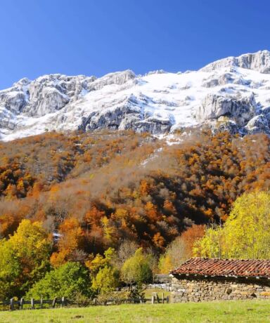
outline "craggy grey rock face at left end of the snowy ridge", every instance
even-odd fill
[[[41,117],[77,100],[82,91],[88,91],[94,79],[61,74],[46,75],[34,81],[21,79],[10,89],[0,91],[0,107],[14,114],[23,112],[31,117]]]

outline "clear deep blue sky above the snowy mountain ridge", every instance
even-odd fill
[[[1,0],[0,88],[42,74],[195,70],[270,49],[268,0]]]

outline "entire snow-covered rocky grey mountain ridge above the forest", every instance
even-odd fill
[[[203,124],[270,133],[269,51],[224,58],[198,71],[51,74],[0,91],[1,140],[52,130],[167,133]]]

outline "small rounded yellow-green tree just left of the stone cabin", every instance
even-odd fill
[[[150,256],[143,253],[143,249],[139,248],[134,256],[127,259],[121,269],[121,278],[127,284],[142,284],[149,282],[152,278],[152,270],[150,268]]]

